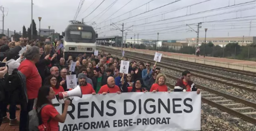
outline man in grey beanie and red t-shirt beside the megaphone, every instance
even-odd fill
[[[86,82],[85,74],[83,73],[78,74],[78,84],[81,87],[82,94],[93,94],[93,95],[96,94],[92,85]]]

